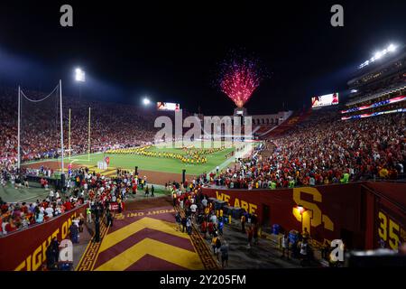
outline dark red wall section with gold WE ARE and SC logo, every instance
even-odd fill
[[[345,235],[346,244],[364,246],[359,184],[250,191],[204,188],[203,193],[255,214],[267,226],[300,232],[307,228],[320,244]]]

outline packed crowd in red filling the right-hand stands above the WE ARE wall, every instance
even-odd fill
[[[275,189],[404,178],[405,125],[403,113],[341,121],[336,108],[315,111],[266,140],[259,155],[200,179],[234,189]]]

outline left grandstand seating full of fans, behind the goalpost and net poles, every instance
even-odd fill
[[[41,93],[30,91],[30,95]],[[17,92],[0,89],[0,162],[4,166],[17,159]],[[64,146],[68,148],[68,114],[71,108],[71,154],[88,151],[88,107],[91,111],[91,151],[97,152],[113,146],[134,146],[152,141],[157,131],[153,127],[156,112],[125,104],[95,101],[64,100]],[[160,115],[164,113],[160,112]],[[35,119],[40,124],[43,116]],[[53,127],[53,128],[50,128]],[[25,131],[22,137],[22,161],[58,156],[60,147],[59,127],[44,126]]]

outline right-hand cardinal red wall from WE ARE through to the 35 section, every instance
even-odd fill
[[[367,189],[369,188],[367,184],[368,182],[360,182],[253,191],[203,189],[203,193],[209,197],[226,200],[233,207],[255,213],[261,222],[269,219],[269,224],[279,224],[288,231],[291,229],[302,231],[304,227],[308,227],[303,225],[305,218],[297,219],[293,214],[297,206],[301,205],[307,211],[308,229],[312,238],[320,242],[325,238],[328,240],[341,238],[347,247],[362,249],[377,247],[379,208],[386,208],[387,219],[395,219],[396,224],[401,222],[406,224],[406,214],[401,210],[406,208],[406,200],[394,202],[376,194],[376,191],[381,191],[380,194],[387,196],[392,191],[406,191],[406,184],[394,187],[390,182],[379,182],[380,185],[375,191]],[[389,192],[385,193],[383,187]],[[265,206],[269,208],[268,216],[263,213]],[[399,228],[400,239],[401,232]],[[387,235],[389,244],[390,234]]]

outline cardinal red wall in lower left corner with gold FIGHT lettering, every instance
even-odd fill
[[[51,239],[69,238],[71,218],[84,213],[88,205],[0,238],[0,271],[35,271],[46,261],[45,251]]]

